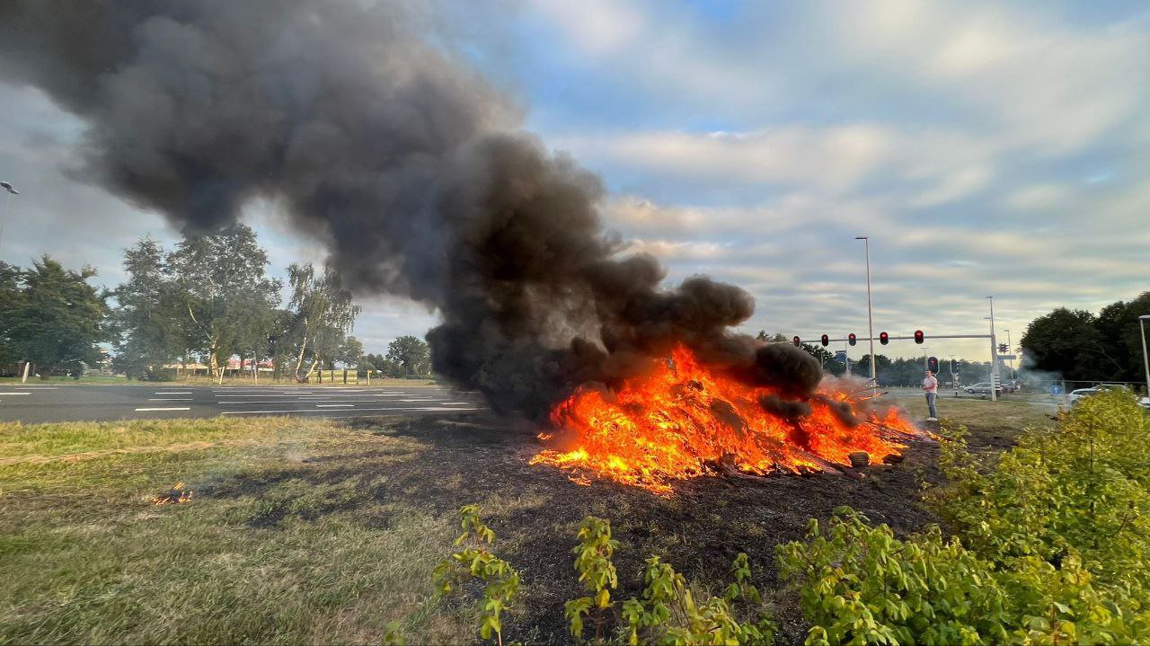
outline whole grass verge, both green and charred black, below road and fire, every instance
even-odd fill
[[[981,401],[950,413],[987,451],[1045,414]],[[458,507],[471,502],[523,576],[509,639],[570,641],[569,551],[588,514],[610,518],[621,541],[618,597],[638,592],[649,554],[719,590],[742,551],[797,636],[774,545],[841,505],[914,531],[931,521],[917,505],[921,482],[938,477],[936,449],[915,446],[862,479],[704,478],[659,498],[532,467],[532,430],[492,416],[5,425],[0,447],[12,574],[0,580],[0,641],[14,643],[377,643],[396,620],[414,641],[475,641],[466,599],[427,602]],[[181,480],[191,502],[151,503]]]

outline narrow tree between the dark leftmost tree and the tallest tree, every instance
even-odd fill
[[[185,354],[182,299],[169,276],[163,248],[151,238],[124,249],[128,282],[116,287],[114,364],[129,377],[155,375]]]

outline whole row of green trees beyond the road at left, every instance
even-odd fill
[[[337,363],[386,376],[430,374],[417,337],[400,337],[384,355],[363,354],[351,331],[360,307],[338,276],[310,263],[288,267],[284,283],[244,224],[189,236],[172,248],[144,238],[124,251],[126,279],[115,289],[90,284],[90,267],[66,269],[45,255],[29,269],[0,262],[0,366],[29,361],[47,376],[79,375],[105,359],[131,378],[168,378],[172,366],[202,363],[221,375],[270,360],[276,370],[309,380]],[[282,307],[283,306],[283,307]]]

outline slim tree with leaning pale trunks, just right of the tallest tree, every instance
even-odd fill
[[[312,263],[288,267],[288,282],[292,295],[290,309],[294,315],[292,340],[296,344],[296,380],[306,380],[324,360],[335,361],[344,336],[355,324],[360,307],[352,302],[339,277],[329,269],[316,276]],[[312,366],[301,376],[304,359],[312,353]]]

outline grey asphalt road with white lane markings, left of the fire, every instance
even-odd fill
[[[436,386],[0,385],[0,422],[164,417],[452,415],[485,409],[478,393]]]

